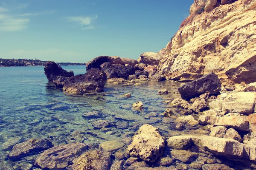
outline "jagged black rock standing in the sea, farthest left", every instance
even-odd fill
[[[62,76],[62,77],[72,77],[74,76],[74,72],[70,71],[67,72],[60,66],[58,66],[55,62],[53,61],[48,61],[44,67],[44,74],[46,75],[47,79],[49,81],[53,81],[53,79],[57,76]]]

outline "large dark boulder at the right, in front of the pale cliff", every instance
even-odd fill
[[[221,91],[221,82],[214,73],[209,73],[192,82],[187,82],[178,88],[182,99],[190,100],[201,94],[218,94]]]

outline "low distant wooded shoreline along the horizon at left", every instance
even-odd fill
[[[44,66],[47,61],[39,59],[0,59],[0,67]],[[56,62],[58,65],[85,65],[85,63]]]

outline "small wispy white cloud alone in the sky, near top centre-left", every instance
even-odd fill
[[[68,20],[78,23],[82,28],[81,29],[94,29],[94,26],[91,26],[93,20],[96,20],[98,15],[95,17],[68,17]]]

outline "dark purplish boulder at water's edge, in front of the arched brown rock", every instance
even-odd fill
[[[129,75],[135,74],[134,67],[128,65],[124,66],[121,64],[111,64],[110,62],[105,62],[100,65],[102,71],[104,71],[108,77],[111,78],[124,78],[128,79]]]

